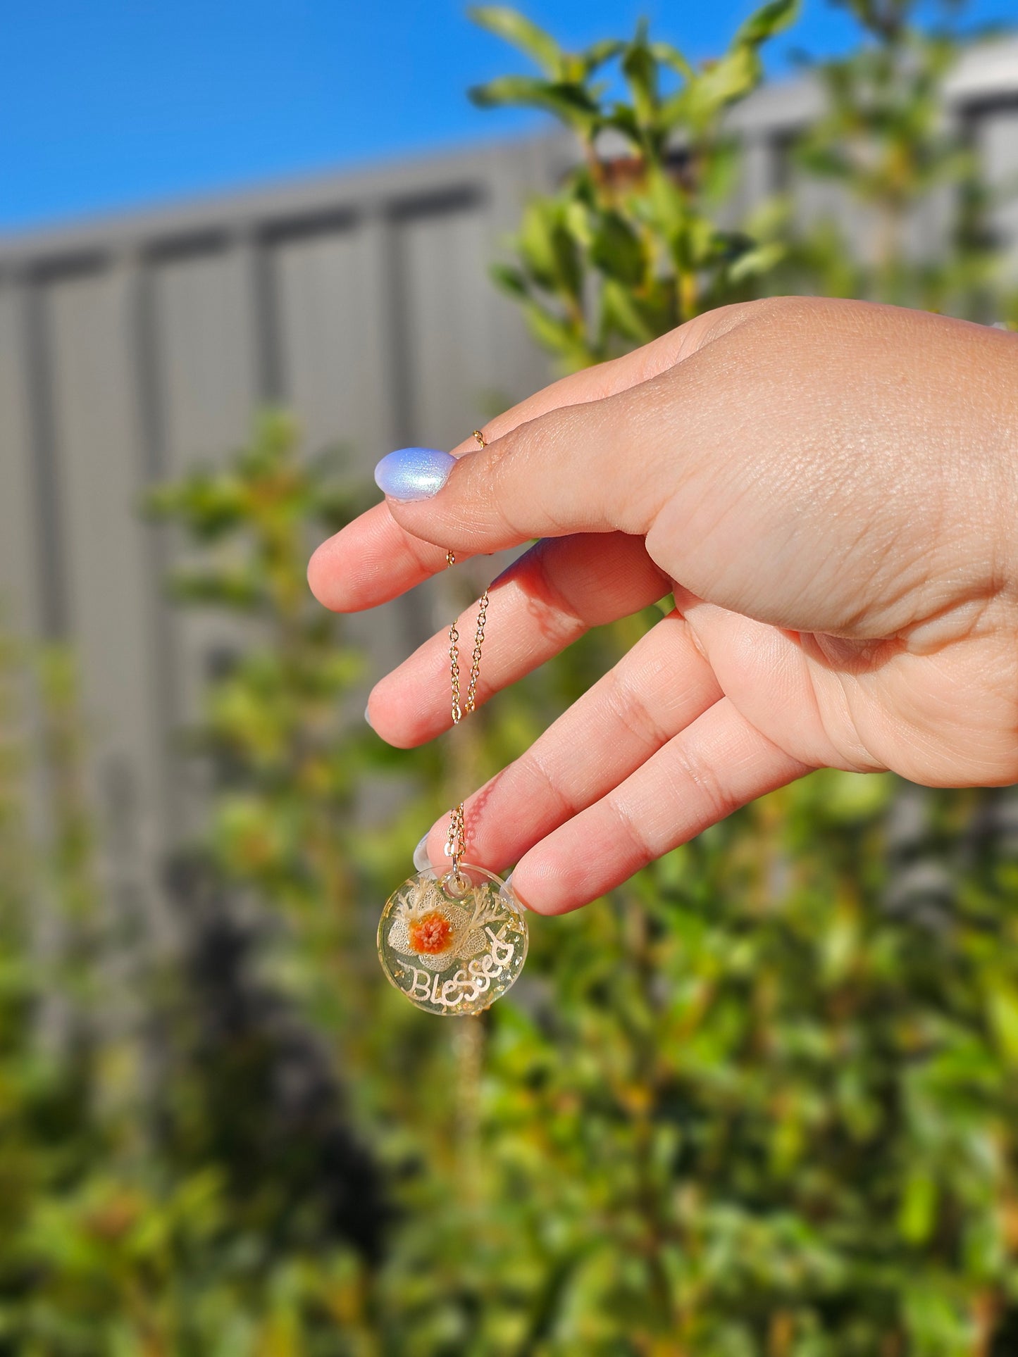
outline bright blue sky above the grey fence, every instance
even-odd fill
[[[532,0],[567,46],[631,30],[700,58],[753,0]],[[1018,22],[1018,0],[973,0],[972,20]],[[533,119],[482,113],[467,85],[524,58],[449,0],[1,0],[0,231],[171,201],[505,136]],[[825,0],[779,37],[843,50]]]

